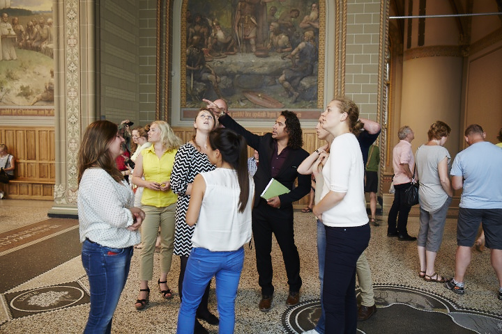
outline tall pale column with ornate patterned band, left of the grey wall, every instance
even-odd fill
[[[49,216],[77,215],[77,154],[96,120],[95,8],[94,0],[54,2],[56,184]]]

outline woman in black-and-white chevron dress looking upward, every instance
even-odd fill
[[[174,254],[180,256],[180,275],[178,279],[178,292],[180,299],[183,298],[183,278],[185,277],[188,255],[192,250],[193,226],[187,225],[185,221],[188,202],[190,201],[190,192],[192,182],[195,177],[202,172],[208,172],[215,169],[215,166],[209,162],[206,155],[208,152],[209,132],[215,128],[215,118],[211,111],[205,108],[199,110],[195,117],[195,134],[192,140],[182,145],[174,158],[174,166],[171,173],[171,187],[174,193],[178,194],[176,204],[176,230],[174,232]],[[208,324],[218,324],[218,318],[208,310],[209,287],[208,284],[201,303],[197,309],[197,318],[204,319]],[[197,331],[198,330],[198,331]],[[207,333],[199,321],[195,321],[195,333]]]

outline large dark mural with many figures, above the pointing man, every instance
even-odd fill
[[[185,1],[182,109],[220,98],[245,118],[282,109],[318,115],[319,12],[304,0]]]

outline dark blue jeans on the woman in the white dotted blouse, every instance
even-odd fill
[[[82,264],[89,278],[91,311],[84,333],[111,333],[112,318],[129,274],[132,246],[109,248],[86,239]]]

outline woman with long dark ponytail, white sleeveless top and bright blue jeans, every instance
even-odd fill
[[[200,173],[192,184],[186,223],[197,225],[183,280],[176,333],[193,333],[197,306],[213,276],[220,333],[234,333],[243,245],[251,239],[254,182],[248,173],[245,139],[220,128],[209,134],[209,144],[208,159],[216,169]]]

